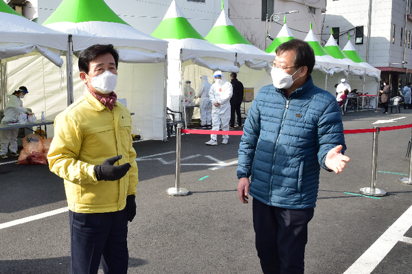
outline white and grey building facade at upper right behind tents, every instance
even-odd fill
[[[322,40],[331,30],[341,49],[348,35],[356,51],[380,69],[393,95],[411,81],[411,0],[328,0]]]

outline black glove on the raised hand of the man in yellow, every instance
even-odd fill
[[[126,175],[131,165],[130,163],[114,165],[119,159],[122,159],[122,155],[108,158],[101,165],[95,165],[94,172],[98,181],[116,181]]]

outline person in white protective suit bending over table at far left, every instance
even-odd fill
[[[1,124],[9,124],[19,121],[20,113],[31,114],[30,111],[23,108],[23,101],[21,99],[29,93],[26,87],[19,87],[18,90],[14,91],[7,102],[7,105],[4,109],[4,117],[1,119]],[[17,152],[17,135],[19,134],[19,128],[14,128],[10,130],[1,130],[1,148],[0,148],[0,157],[5,159],[8,158],[8,144],[10,143],[10,155],[19,156]]]

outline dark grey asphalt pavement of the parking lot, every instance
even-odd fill
[[[412,124],[412,110],[401,111],[347,113],[343,123],[345,130]],[[345,135],[347,168],[321,171],[306,273],[411,273],[412,185],[398,181],[409,173],[410,138],[411,128],[378,135],[376,187],[387,195],[373,197],[359,192],[371,186],[372,133]],[[208,140],[181,137],[180,186],[190,190],[187,196],[166,194],[175,184],[175,137],[135,142],[139,185],[137,216],[128,227],[128,273],[262,273],[251,203],[242,204],[236,191],[240,136],[227,145],[221,136],[218,146],[206,146]],[[0,273],[69,273],[62,179],[46,165],[13,160],[0,159]]]

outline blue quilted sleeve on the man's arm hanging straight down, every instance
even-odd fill
[[[238,179],[252,174],[253,158],[260,135],[260,112],[258,101],[253,101],[251,109],[244,122],[243,135],[239,145]]]

